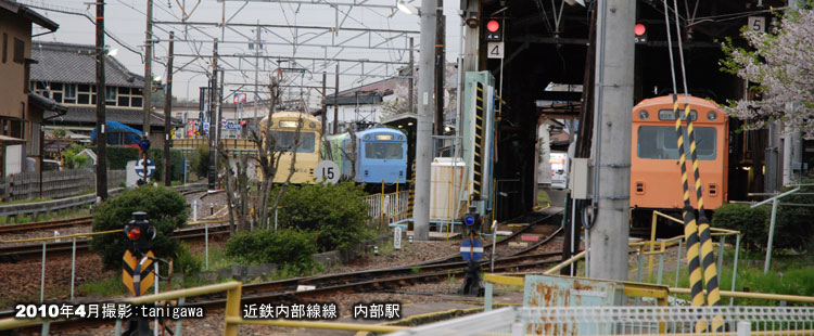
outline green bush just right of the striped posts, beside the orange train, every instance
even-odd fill
[[[770,206],[752,209],[748,204],[724,204],[715,210],[712,227],[740,231],[740,244],[746,250],[762,250],[766,246],[771,214]]]

